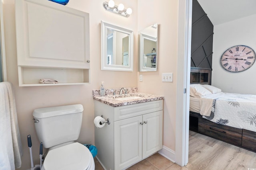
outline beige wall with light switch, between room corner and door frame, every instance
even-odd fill
[[[158,23],[158,70],[139,72],[140,92],[164,96],[163,145],[175,150],[176,88],[178,55],[178,0],[138,0],[138,31]],[[172,72],[173,82],[162,82],[162,73]]]

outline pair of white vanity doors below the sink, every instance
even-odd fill
[[[162,149],[162,111],[114,122],[115,167],[123,169]]]

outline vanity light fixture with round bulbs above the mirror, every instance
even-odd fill
[[[124,4],[115,5],[114,0],[110,0],[108,2],[103,2],[103,7],[112,13],[118,14],[120,16],[129,17],[132,14],[132,8],[124,9]]]

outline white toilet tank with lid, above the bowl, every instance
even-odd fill
[[[83,110],[81,104],[35,109],[36,133],[44,148],[77,140]]]

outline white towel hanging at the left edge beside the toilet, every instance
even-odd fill
[[[0,153],[1,170],[20,168],[22,144],[10,82],[0,82]]]

